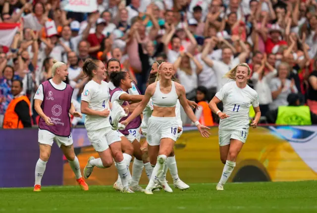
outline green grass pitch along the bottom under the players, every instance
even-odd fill
[[[110,186],[0,189],[0,213],[317,213],[317,181],[190,184],[187,191],[123,194]]]

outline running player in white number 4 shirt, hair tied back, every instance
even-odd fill
[[[108,83],[104,81],[105,65],[100,60],[86,59],[83,71],[91,80],[82,93],[81,111],[86,114],[85,128],[88,139],[100,156],[98,159],[89,158],[84,169],[84,177],[88,178],[91,175],[94,166],[110,167],[113,157],[123,185],[122,192],[133,193],[127,180],[127,167],[123,160],[119,133],[111,129],[109,119],[106,119],[110,113],[111,103],[109,103]]]

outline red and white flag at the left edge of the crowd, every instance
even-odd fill
[[[0,23],[0,45],[10,47],[14,35],[20,27],[19,23]]]

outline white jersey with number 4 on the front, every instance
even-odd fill
[[[109,109],[110,94],[108,83],[102,81],[101,84],[91,80],[84,88],[81,94],[81,100],[88,102],[89,108],[96,111]],[[110,127],[109,119],[97,115],[86,115],[85,128],[87,131],[96,131],[105,127]]]

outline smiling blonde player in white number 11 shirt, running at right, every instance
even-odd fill
[[[237,156],[247,140],[251,105],[256,112],[255,119],[251,123],[253,128],[257,127],[261,117],[258,94],[247,85],[250,72],[250,67],[246,63],[240,63],[231,69],[226,77],[234,81],[225,84],[209,103],[211,110],[220,118],[218,133],[220,159],[225,164],[216,186],[217,190],[223,190],[223,185],[230,177]],[[217,108],[220,102],[223,104],[222,112]]]

